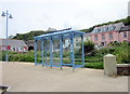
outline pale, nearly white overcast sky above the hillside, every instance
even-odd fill
[[[128,16],[129,0],[1,0],[0,13],[9,10],[9,36],[49,27],[86,29]],[[0,16],[0,38],[5,38],[5,18]]]

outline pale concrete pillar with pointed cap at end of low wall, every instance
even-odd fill
[[[104,75],[109,77],[117,75],[116,56],[113,54],[104,56]]]

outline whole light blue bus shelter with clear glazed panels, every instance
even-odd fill
[[[35,65],[75,68],[84,67],[83,33],[64,30],[35,38]],[[38,51],[40,42],[40,51]]]

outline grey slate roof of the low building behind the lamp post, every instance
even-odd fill
[[[9,39],[9,45],[13,48],[22,48],[27,46],[23,40],[11,40]],[[6,45],[6,39],[0,39],[0,45]]]

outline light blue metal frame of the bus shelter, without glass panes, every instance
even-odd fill
[[[68,36],[64,36],[66,33],[68,33]],[[34,37],[35,38],[35,65],[42,64],[42,66],[61,67],[61,69],[63,68],[63,66],[72,66],[73,70],[75,70],[75,68],[84,67],[83,33],[84,32],[77,31],[77,30],[65,30],[65,31],[47,33],[47,35],[41,35],[41,36],[38,36],[38,37]],[[60,65],[54,65],[54,62],[53,62],[52,48],[53,48],[53,38],[56,38],[55,36],[58,37],[58,39],[60,39]],[[74,38],[75,38],[75,36],[81,37],[81,41],[82,41],[82,65],[75,65],[75,51],[74,51]],[[63,38],[69,38],[70,39],[70,57],[72,57],[72,63],[70,64],[64,64],[63,63]],[[48,61],[43,61],[44,55],[46,55],[46,59],[47,59],[47,44],[43,44],[43,43],[46,43],[46,40],[50,41],[50,63],[46,63]],[[37,42],[38,41],[41,41],[42,63],[37,63]],[[46,49],[46,51],[43,51],[43,48]]]

